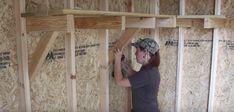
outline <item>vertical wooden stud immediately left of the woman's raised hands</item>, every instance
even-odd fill
[[[100,1],[100,9],[108,11],[108,0]],[[98,30],[100,53],[100,80],[99,80],[99,112],[109,112],[109,70],[108,70],[108,49],[109,49],[109,30],[102,29]]]

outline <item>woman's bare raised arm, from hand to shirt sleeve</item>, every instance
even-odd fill
[[[130,87],[131,84],[130,84],[128,78],[123,77],[123,74],[121,71],[122,50],[115,49],[114,54],[115,54],[115,63],[114,63],[115,82],[119,86]]]

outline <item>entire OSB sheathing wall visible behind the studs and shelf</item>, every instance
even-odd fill
[[[98,10],[100,0],[77,0],[76,8]],[[49,5],[48,5],[49,4]],[[31,0],[30,12],[46,13],[46,9],[63,8],[61,0]],[[127,11],[126,0],[109,1],[110,11]],[[142,5],[144,4],[144,5]],[[179,0],[161,0],[160,14],[178,14]],[[149,1],[134,2],[135,12],[149,13]],[[222,1],[222,14],[233,17],[234,2]],[[186,0],[186,14],[212,15],[214,0]],[[0,1],[0,111],[17,112],[20,92],[18,89],[17,50],[12,0]],[[215,112],[234,111],[233,89],[233,29],[221,29],[215,94]],[[177,66],[178,29],[160,28],[159,44],[161,83],[159,107],[162,112],[174,112]],[[29,61],[45,32],[28,33]],[[120,30],[110,30],[109,45],[121,35]],[[134,41],[150,36],[143,29]],[[79,112],[95,112],[99,109],[99,43],[97,30],[76,31],[77,107]],[[32,110],[68,111],[64,32],[61,32],[50,49],[47,58],[30,82]],[[185,30],[184,74],[182,80],[182,111],[204,112],[207,109],[212,49],[212,30],[187,28]],[[127,54],[127,49],[124,51]],[[134,57],[134,56],[133,56]],[[134,57],[135,58],[135,57]],[[139,69],[133,60],[134,67]],[[110,112],[123,112],[127,106],[127,90],[116,86],[110,66]]]

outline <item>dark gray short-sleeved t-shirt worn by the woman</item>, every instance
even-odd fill
[[[157,68],[142,68],[128,77],[132,89],[134,112],[159,112],[157,96],[160,73]]]

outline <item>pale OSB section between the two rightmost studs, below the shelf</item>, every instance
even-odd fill
[[[182,111],[205,112],[209,90],[212,30],[185,31]]]

